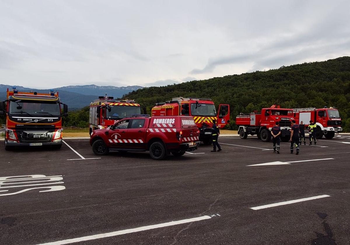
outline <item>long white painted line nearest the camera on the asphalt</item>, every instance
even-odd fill
[[[167,226],[172,226],[172,225],[180,225],[180,224],[185,224],[185,223],[190,223],[190,222],[195,222],[195,221],[201,221],[204,219],[211,219],[211,217],[208,215],[205,215],[205,216],[201,216],[201,217],[197,217],[197,218],[182,219],[180,221],[172,221],[172,222],[167,222],[167,223],[162,223],[162,224],[157,224],[157,225],[147,225],[147,226],[142,226],[139,228],[114,231],[114,232],[102,233],[102,234],[91,235],[91,236],[86,236],[86,237],[66,239],[66,240],[61,240],[61,241],[53,241],[51,243],[41,243],[41,244],[37,244],[37,245],[61,245],[61,244],[77,243],[77,242],[81,242],[81,241],[95,240],[95,239],[105,238],[105,237],[114,237],[114,236],[119,236],[119,235],[123,235],[123,234],[127,234],[127,233],[146,231],[146,230],[162,228],[162,227],[167,227]]]

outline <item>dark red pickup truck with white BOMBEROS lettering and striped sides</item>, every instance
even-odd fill
[[[148,117],[132,115],[108,128],[94,130],[90,145],[95,155],[106,155],[110,150],[119,152],[149,151],[155,160],[172,153],[181,156],[197,149],[199,131],[193,117]]]

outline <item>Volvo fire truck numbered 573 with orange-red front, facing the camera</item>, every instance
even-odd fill
[[[7,100],[0,102],[0,115],[6,115],[6,151],[15,146],[61,148],[62,116],[68,116],[68,106],[60,102],[58,92],[7,89]]]

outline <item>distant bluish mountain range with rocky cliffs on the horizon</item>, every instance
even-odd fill
[[[4,85],[0,84],[0,101],[6,99],[7,89],[12,90],[12,87],[16,87],[19,91],[29,92],[30,90],[38,93],[48,93],[50,89],[33,89],[29,87],[16,86],[16,85]],[[87,106],[98,96],[104,96],[106,93],[108,96],[114,98],[121,98],[124,94],[142,89],[141,86],[97,86],[97,85],[83,85],[83,86],[64,86],[56,87],[53,90],[58,91],[59,97],[62,103],[67,104],[70,110],[79,109]]]

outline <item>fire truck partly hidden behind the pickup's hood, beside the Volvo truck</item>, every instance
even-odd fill
[[[107,94],[99,96],[90,103],[90,135],[92,131],[109,127],[132,114],[141,114],[141,106],[134,100],[116,100]]]

